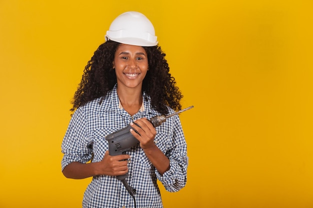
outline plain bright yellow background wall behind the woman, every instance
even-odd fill
[[[0,0],[0,208],[79,208],[60,144],[110,22],[154,24],[184,98],[187,185],[165,208],[313,207],[313,1]]]

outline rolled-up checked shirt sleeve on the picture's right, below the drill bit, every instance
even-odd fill
[[[165,155],[169,159],[169,170],[162,176],[156,170],[155,174],[166,191],[177,192],[186,185],[188,166],[187,147],[178,116],[175,116],[172,138]]]

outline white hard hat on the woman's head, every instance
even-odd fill
[[[157,45],[152,23],[137,11],[127,11],[117,16],[106,31],[105,40],[139,46]]]

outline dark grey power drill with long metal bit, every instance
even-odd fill
[[[161,116],[153,116],[150,120],[148,120],[153,127],[157,127],[164,123],[167,118],[179,114],[183,111],[189,110],[190,108],[193,108],[193,106],[187,107],[185,109],[182,109],[180,111],[177,111],[175,113],[169,114],[167,116],[161,115]],[[137,125],[136,123],[134,123]],[[138,125],[137,125],[138,126]],[[140,126],[138,126],[140,127]],[[126,154],[127,151],[130,150],[131,147],[136,146],[139,144],[139,141],[132,136],[130,133],[130,129],[133,129],[130,124],[128,124],[125,128],[120,129],[116,132],[113,132],[105,137],[105,140],[108,142],[108,152],[110,156],[115,156],[115,155],[121,155],[121,154]],[[133,129],[134,130],[134,129]],[[134,130],[136,133],[138,133],[136,130]],[[132,189],[127,185],[126,178],[128,177],[128,173],[122,176],[116,176],[116,178],[124,184],[126,190],[128,193],[133,196],[136,194],[136,190]]]

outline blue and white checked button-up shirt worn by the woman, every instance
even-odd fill
[[[62,170],[71,162],[99,162],[103,159],[108,144],[105,136],[124,128],[135,119],[151,118],[159,115],[151,109],[150,100],[143,94],[144,110],[130,116],[118,108],[119,99],[115,87],[109,91],[100,104],[100,98],[79,107],[73,114],[61,145],[64,154]],[[169,109],[170,113],[174,111]],[[131,148],[128,163],[127,183],[136,189],[137,208],[162,208],[160,192],[156,180],[159,180],[168,192],[176,192],[186,184],[188,158],[186,142],[177,115],[166,119],[156,127],[154,143],[168,157],[170,168],[162,176],[157,172],[143,150],[137,145]],[[83,208],[133,208],[132,197],[121,181],[114,176],[95,176],[88,185],[83,201]]]

